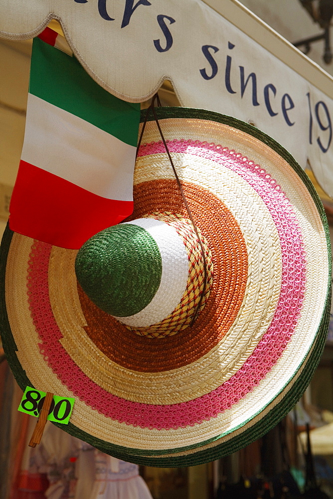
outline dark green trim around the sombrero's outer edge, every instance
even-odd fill
[[[143,122],[146,117],[146,110],[142,111],[141,113],[141,121]],[[205,111],[201,109],[186,109],[186,108],[157,108],[156,109],[157,117],[159,120],[167,119],[167,118],[190,118],[190,119],[205,119],[209,121],[216,121],[218,123],[223,123],[226,125],[229,125],[230,127],[234,127],[238,130],[244,131],[248,133],[249,135],[252,135],[253,137],[261,140],[265,144],[267,144],[269,147],[271,147],[274,151],[276,151],[283,159],[285,159],[289,165],[295,170],[295,172],[299,175],[299,177],[303,180],[304,184],[308,188],[314,203],[319,211],[319,214],[322,219],[322,223],[325,229],[326,233],[326,239],[327,239],[327,248],[328,248],[328,256],[329,256],[329,261],[331,260],[331,242],[330,242],[330,236],[329,236],[329,227],[327,223],[327,218],[325,215],[324,207],[321,203],[321,200],[311,183],[310,179],[306,175],[306,173],[302,170],[302,168],[298,165],[298,163],[295,161],[295,159],[291,156],[291,154],[283,148],[279,143],[277,143],[274,139],[266,135],[264,132],[261,132],[257,128],[244,123],[243,121],[237,120],[236,118],[231,118],[230,116],[224,116],[218,113],[210,112],[210,111]],[[176,116],[175,116],[176,114]],[[148,117],[148,121],[153,121],[154,118],[153,116]],[[162,129],[163,129],[163,124],[162,124]],[[6,234],[8,234],[9,229],[6,229],[5,234],[3,236],[3,241],[7,238]],[[4,350],[7,354],[7,345],[8,345],[8,363],[10,365],[11,370],[14,373],[14,376],[17,380],[17,383],[19,386],[24,390],[26,385],[28,385],[30,382],[27,379],[25,375],[25,371],[23,370],[22,366],[19,364],[16,352],[10,352],[9,349],[14,345],[13,338],[11,335],[10,331],[10,326],[9,322],[7,319],[7,313],[6,313],[6,308],[5,308],[5,302],[4,302],[4,271],[5,271],[5,261],[6,261],[6,255],[7,251],[9,250],[10,246],[10,241],[11,241],[11,235],[8,236],[10,238],[9,241],[4,242],[4,250],[3,250],[3,256],[5,256],[3,261],[3,269],[1,267],[0,269],[0,292],[1,292],[1,301],[0,301],[0,313],[2,311],[2,306],[3,307],[3,312],[4,315],[6,316],[6,320],[1,320],[1,323],[6,326],[4,327],[5,333],[2,333],[4,336],[5,334],[8,334],[10,339],[7,341],[6,338],[5,341],[3,341],[3,347]],[[1,246],[2,248],[2,246]],[[7,249],[6,249],[7,248]],[[2,256],[2,258],[3,258]],[[197,452],[193,454],[188,454],[185,456],[178,456],[178,453],[186,452],[191,449],[199,449],[200,447],[203,447],[207,444],[210,444],[212,442],[215,442],[219,440],[220,438],[224,437],[227,434],[230,434],[231,431],[220,434],[212,439],[208,439],[206,441],[197,443],[192,446],[187,446],[187,447],[182,447],[182,448],[177,448],[177,449],[166,449],[166,450],[156,450],[156,451],[147,451],[147,450],[142,450],[142,449],[133,449],[133,448],[126,448],[122,447],[119,445],[111,444],[109,442],[105,442],[103,440],[97,439],[95,437],[92,437],[90,434],[85,433],[84,431],[80,430],[79,428],[75,427],[73,424],[69,423],[69,425],[64,428],[63,425],[55,424],[59,428],[67,431],[70,435],[73,435],[81,440],[84,440],[85,442],[91,444],[92,446],[96,447],[97,449],[101,450],[102,452],[105,452],[106,454],[111,454],[112,456],[123,459],[125,461],[130,461],[136,464],[140,465],[146,465],[146,466],[154,466],[154,467],[183,467],[183,466],[194,466],[197,464],[202,464],[202,463],[208,463],[210,461],[216,460],[218,458],[221,458],[223,456],[227,456],[229,454],[232,454],[239,449],[242,449],[246,447],[247,445],[251,444],[253,441],[257,440],[258,438],[262,437],[265,435],[269,430],[274,428],[281,419],[283,419],[295,406],[295,404],[298,402],[298,400],[302,397],[303,393],[305,392],[307,386],[309,385],[311,378],[318,366],[320,357],[323,353],[323,349],[325,346],[325,341],[327,337],[327,331],[328,331],[328,326],[330,322],[330,310],[331,310],[331,265],[329,264],[329,286],[328,286],[328,292],[326,295],[326,300],[325,300],[325,306],[324,306],[324,311],[322,314],[322,320],[320,323],[320,326],[318,328],[315,340],[312,344],[312,346],[309,348],[309,351],[307,354],[304,356],[301,364],[299,365],[298,369],[301,368],[301,366],[304,363],[304,359],[307,357],[309,354],[310,350],[312,347],[314,347],[313,352],[311,353],[306,366],[304,367],[301,376],[297,379],[297,381],[290,387],[290,390],[288,390],[287,394],[284,396],[284,398],[279,402],[275,407],[272,408],[272,410],[265,416],[263,417],[260,421],[255,423],[253,426],[250,428],[246,429],[244,432],[241,434],[231,438],[229,441],[221,443],[219,445],[216,445],[215,447],[211,449],[204,449],[204,450],[197,450]],[[3,274],[2,274],[3,272]],[[3,288],[3,292],[2,292]],[[2,295],[3,295],[3,300],[2,300]],[[3,305],[2,305],[3,303]],[[0,324],[1,324],[0,323]],[[7,329],[8,328],[8,329]],[[16,350],[16,345],[15,345],[15,350]],[[297,370],[296,370],[297,372]],[[24,374],[23,374],[24,373]],[[294,373],[295,375],[296,373]],[[293,379],[293,378],[292,378]],[[279,394],[286,388],[287,385],[290,384],[292,381],[289,380],[289,382],[283,387],[279,393],[275,394],[273,399],[270,401],[272,403],[278,396]],[[23,380],[26,380],[25,382]],[[30,386],[32,386],[30,384]],[[269,404],[270,404],[269,403]],[[269,405],[268,404],[268,405]],[[267,407],[267,406],[266,406]],[[263,408],[264,409],[264,408]],[[262,409],[262,410],[263,410]],[[253,418],[255,415],[253,416]],[[251,418],[251,420],[253,419]],[[243,427],[245,424],[249,423],[250,420],[244,421],[241,425],[239,425],[237,428],[234,428],[232,431],[235,431],[238,428]],[[161,456],[163,454],[172,454],[174,453],[173,456],[169,457],[154,457],[154,456]]]

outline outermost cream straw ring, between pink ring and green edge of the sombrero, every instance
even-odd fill
[[[308,190],[299,179],[298,175],[291,171],[289,165],[282,158],[280,158],[277,153],[265,146],[262,142],[254,139],[253,137],[249,137],[246,134],[242,134],[242,132],[238,135],[238,141],[232,140],[232,129],[228,126],[222,127],[224,127],[224,130],[222,129],[221,132],[225,134],[223,137],[223,144],[226,144],[228,141],[227,146],[229,148],[240,150],[243,154],[246,154],[251,159],[254,159],[256,162],[260,163],[269,173],[271,173],[273,178],[276,180],[279,179],[278,182],[280,183],[280,186],[292,203],[299,200],[299,223],[304,234],[308,261],[307,275],[309,281],[309,288],[306,291],[305,297],[305,306],[303,307],[299,324],[296,327],[292,340],[289,342],[278,363],[273,367],[270,373],[267,374],[265,379],[262,380],[260,385],[251,392],[251,397],[245,397],[236,406],[233,406],[232,409],[224,412],[218,416],[218,418],[214,418],[209,422],[203,422],[199,425],[199,435],[196,435],[198,425],[193,428],[178,430],[148,430],[134,428],[118,422],[110,422],[103,415],[98,414],[97,411],[87,408],[84,403],[78,400],[74,405],[71,420],[73,424],[79,426],[82,430],[108,442],[133,448],[171,449],[177,446],[181,447],[196,443],[200,440],[200,438],[201,440],[205,440],[207,438],[214,437],[223,431],[231,432],[232,429],[236,427],[236,424],[234,424],[233,421],[233,417],[235,415],[238,415],[238,421],[242,422],[250,417],[254,417],[258,411],[260,411],[263,407],[266,407],[267,404],[271,403],[270,408],[273,408],[279,402],[281,398],[280,395],[274,401],[271,401],[272,394],[274,397],[274,393],[280,392],[293,378],[295,373],[297,373],[295,375],[296,377],[300,375],[303,364],[302,359],[310,350],[315,333],[318,329],[321,314],[324,308],[326,291],[318,290],[316,282],[322,282],[323,289],[325,289],[325,286],[328,284],[326,237],[318,210]],[[197,135],[195,139],[198,139]],[[159,138],[155,135],[152,140],[159,140]],[[221,135],[219,135],[217,143],[221,142],[221,140]],[[240,145],[242,141],[245,146]],[[247,150],[247,152],[244,152],[245,150]],[[261,155],[259,154],[259,150],[262,152]],[[276,167],[270,160],[276,162]],[[287,177],[283,176],[283,172],[285,175],[287,174]],[[14,238],[20,238],[20,251],[23,250],[22,245],[24,246],[25,244],[23,244],[23,239],[28,242],[31,241],[28,238],[22,238],[18,235],[14,235]],[[15,243],[14,240],[13,243]],[[13,247],[14,246],[15,245],[13,245]],[[311,250],[311,248],[314,248],[315,250]],[[17,289],[19,294],[18,296],[17,293],[14,292],[11,279],[16,273],[20,272],[24,277],[26,276],[26,261],[23,265],[19,264],[18,260],[15,261],[15,255],[11,256],[11,253],[14,253],[15,251],[16,250],[14,250],[14,248],[10,248],[8,255],[8,267],[6,272],[7,307],[8,314],[11,316],[10,325],[12,330],[15,331],[15,327],[17,327],[17,331],[19,331],[20,328],[20,334],[23,335],[28,334],[30,331],[30,326],[29,331],[27,331],[24,324],[24,319],[29,321],[30,315],[27,314],[26,316],[25,312],[23,313],[22,311],[20,315],[21,320],[18,321],[16,320],[18,318],[15,317],[16,311],[14,313],[13,307],[16,306],[15,301],[17,302],[17,300],[19,303],[22,302],[22,299],[23,302],[26,301],[26,294],[25,290],[22,295],[22,292]],[[29,249],[27,252],[29,252]],[[12,262],[10,263],[9,260],[11,258]],[[12,263],[14,263],[14,266]],[[305,330],[307,331],[306,341],[304,339]],[[35,344],[31,346],[32,348],[34,346],[36,347]],[[61,382],[55,378],[52,371],[47,367],[47,365],[44,364],[43,358],[37,347],[34,348],[34,352],[36,355],[36,364],[39,364],[39,367],[31,373],[34,378],[36,378],[34,381],[30,376],[31,381],[36,386],[45,386],[45,382],[47,380],[47,383],[49,384],[47,389],[50,389],[50,391],[52,391],[53,387],[54,393],[72,396],[71,392],[69,392],[66,387],[64,387]],[[19,355],[24,357],[24,352],[19,352]],[[25,365],[28,365],[27,360],[30,361],[30,359],[31,357],[29,354]],[[298,369],[300,370],[298,371]],[[266,411],[268,411],[268,408],[264,410],[263,414],[265,414]],[[89,417],[87,417],[87,415],[89,415]],[[241,429],[236,430],[232,436],[241,433],[250,425],[252,425],[252,421]]]

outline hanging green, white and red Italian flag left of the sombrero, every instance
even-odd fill
[[[140,104],[117,99],[99,86],[50,28],[40,38],[32,46],[9,227],[78,249],[133,211]]]

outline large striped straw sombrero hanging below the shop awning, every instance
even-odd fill
[[[330,243],[273,139],[208,111],[156,113],[197,231],[149,117],[125,224],[78,254],[6,230],[1,330],[21,388],[76,398],[63,429],[126,461],[190,466],[259,438],[303,394],[328,328]]]

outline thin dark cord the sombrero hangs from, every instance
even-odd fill
[[[161,125],[160,125],[159,120],[158,120],[157,115],[156,115],[156,111],[155,111],[155,100],[157,100],[159,106],[161,106],[160,97],[156,93],[154,95],[153,99],[152,99],[151,105],[147,108],[147,112],[146,112],[146,116],[145,116],[145,121],[144,121],[142,130],[141,130],[141,134],[140,134],[140,138],[139,138],[139,142],[138,142],[137,157],[138,157],[138,153],[139,153],[139,148],[140,148],[140,145],[141,145],[142,137],[144,135],[144,131],[145,131],[145,128],[146,128],[148,115],[149,115],[149,112],[152,111],[154,119],[155,119],[156,124],[157,124],[157,127],[159,129],[159,132],[160,132],[160,135],[161,135],[164,147],[166,148],[166,154],[167,154],[167,156],[169,158],[169,161],[170,161],[170,164],[171,164],[171,167],[172,167],[172,170],[173,170],[173,173],[174,173],[174,176],[175,176],[178,188],[179,188],[180,195],[182,197],[183,203],[185,205],[185,208],[186,208],[186,211],[187,211],[187,214],[188,214],[188,218],[191,221],[191,224],[192,224],[193,230],[195,232],[195,235],[196,235],[196,237],[198,239],[198,242],[199,242],[199,245],[200,245],[200,249],[201,249],[201,254],[202,254],[202,260],[203,260],[203,289],[202,289],[202,293],[201,293],[200,298],[199,298],[199,302],[198,302],[198,304],[197,304],[197,306],[195,308],[194,315],[193,315],[192,320],[191,320],[191,322],[189,324],[189,326],[191,327],[194,324],[194,322],[195,322],[195,320],[196,320],[196,318],[198,316],[198,313],[199,313],[199,310],[200,310],[200,307],[201,307],[201,303],[202,303],[202,300],[203,300],[203,297],[204,297],[204,294],[205,294],[205,291],[206,291],[206,286],[207,286],[207,261],[206,261],[206,256],[205,256],[205,250],[204,250],[204,247],[203,247],[203,243],[201,241],[201,238],[199,236],[199,233],[198,233],[198,230],[196,228],[195,222],[193,220],[193,216],[192,216],[191,210],[190,210],[190,208],[188,206],[187,200],[185,198],[185,194],[184,194],[184,191],[182,189],[181,182],[179,180],[179,177],[178,177],[176,169],[174,167],[174,164],[173,164],[170,152],[169,152],[168,147],[166,145],[166,139],[164,138],[164,135],[163,135],[163,132],[162,132],[162,129],[161,129]]]

